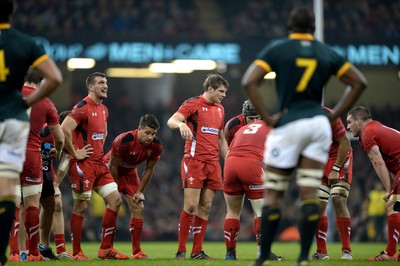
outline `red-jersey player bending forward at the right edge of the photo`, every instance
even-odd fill
[[[400,234],[400,132],[373,120],[371,112],[357,106],[347,113],[347,129],[359,137],[361,148],[368,155],[386,194],[388,242],[386,249],[369,261],[398,261]],[[391,179],[394,181],[391,185]]]

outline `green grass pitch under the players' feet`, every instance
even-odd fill
[[[114,244],[114,247],[120,252],[130,254],[131,246],[127,242],[118,242]],[[339,243],[328,244],[328,251],[331,257],[329,261],[312,261],[311,265],[359,265],[365,266],[366,264],[378,264],[387,265],[395,264],[395,262],[367,262],[366,259],[371,256],[375,256],[379,251],[386,247],[385,243],[352,243],[353,258],[352,261],[341,261],[341,245]],[[70,245],[68,245],[70,250]],[[94,261],[48,261],[48,262],[30,262],[29,266],[43,265],[46,266],[62,266],[62,265],[158,265],[158,266],[172,266],[172,265],[251,265],[256,255],[256,245],[254,242],[239,242],[237,246],[238,261],[225,261],[225,244],[223,242],[206,242],[203,246],[204,251],[207,255],[215,258],[212,261],[193,261],[186,259],[185,261],[175,261],[174,254],[176,252],[176,242],[143,242],[142,249],[146,251],[151,259],[149,260],[136,260],[136,261],[110,261],[110,260],[99,260],[97,259],[97,249],[99,243],[83,243],[82,249],[84,253],[92,258],[96,258]],[[191,243],[188,243],[188,250],[191,249]],[[313,247],[313,251],[315,246]],[[272,265],[295,265],[296,258],[299,251],[298,243],[276,243],[273,246],[273,251],[286,258],[282,262],[274,262]],[[187,255],[188,257],[188,255]],[[27,265],[25,263],[8,263],[8,265]]]

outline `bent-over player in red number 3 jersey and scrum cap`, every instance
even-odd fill
[[[248,107],[247,104],[248,101],[243,105],[243,114],[247,109],[244,107]],[[253,208],[254,233],[258,249],[260,248],[260,220],[265,189],[262,178],[265,165],[262,160],[265,139],[271,129],[260,121],[260,116],[258,118],[257,116],[257,112],[254,112],[253,122],[237,130],[225,160],[224,197],[227,207],[224,222],[225,260],[237,259],[236,242],[240,231],[244,196],[249,199]],[[282,260],[282,257],[272,253],[271,259]]]

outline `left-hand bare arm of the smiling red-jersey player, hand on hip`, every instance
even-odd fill
[[[64,147],[67,152],[74,158],[75,160],[83,160],[85,158],[89,158],[91,154],[93,154],[93,148],[90,145],[86,145],[82,149],[75,150],[74,143],[72,141],[72,131],[77,127],[76,121],[67,116],[63,123],[61,124],[61,129],[65,136]]]

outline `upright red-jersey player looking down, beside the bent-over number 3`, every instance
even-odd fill
[[[220,104],[229,84],[218,74],[209,74],[200,96],[186,100],[168,120],[171,129],[179,129],[185,140],[181,162],[184,194],[179,219],[178,250],[175,259],[186,257],[186,243],[193,231],[191,259],[210,259],[204,251],[208,215],[215,193],[223,189],[219,156],[225,159],[228,145],[224,137],[224,107]]]

